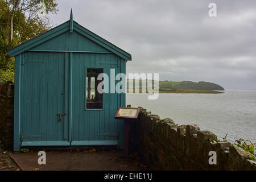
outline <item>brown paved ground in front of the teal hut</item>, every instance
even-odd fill
[[[123,158],[123,151],[111,149],[44,150],[46,165],[38,164],[38,151],[8,152],[0,148],[0,170],[24,171],[141,171],[146,167],[139,163],[136,154]],[[18,165],[17,165],[18,164]]]

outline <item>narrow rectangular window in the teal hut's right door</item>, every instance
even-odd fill
[[[101,80],[97,80],[103,69],[87,68],[86,69],[86,109],[102,109],[103,95],[97,92],[98,84]]]

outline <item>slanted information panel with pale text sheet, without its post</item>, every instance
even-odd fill
[[[137,119],[139,108],[137,107],[119,107],[115,114],[115,119]]]

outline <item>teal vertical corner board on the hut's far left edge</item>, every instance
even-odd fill
[[[14,85],[14,151],[19,151],[20,146],[20,80],[21,80],[22,55],[15,57],[15,85]]]

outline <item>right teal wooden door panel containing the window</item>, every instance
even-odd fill
[[[73,91],[69,106],[72,108],[72,146],[117,145],[120,141],[118,124],[121,121],[114,115],[121,106],[121,94],[101,95],[96,91],[95,81],[99,73],[110,76],[110,69],[119,73],[118,61],[113,54],[73,53]],[[110,88],[110,81],[108,84]]]

